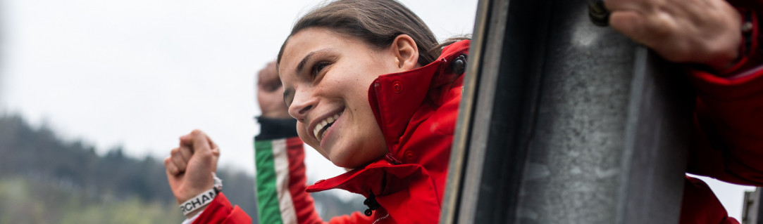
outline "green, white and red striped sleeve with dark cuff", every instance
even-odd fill
[[[304,144],[295,131],[295,120],[259,118],[262,133],[255,137],[256,195],[259,223],[324,223],[313,197],[304,191],[307,176]],[[369,217],[356,212],[330,223],[365,223]]]

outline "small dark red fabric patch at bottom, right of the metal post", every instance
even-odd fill
[[[681,224],[739,224],[739,221],[729,217],[710,187],[700,179],[686,177],[681,202]]]

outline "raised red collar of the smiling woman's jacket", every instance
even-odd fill
[[[325,191],[340,188],[346,191],[363,194],[368,197],[369,191],[376,195],[384,192],[394,192],[398,189],[388,188],[387,178],[414,178],[428,175],[419,164],[398,164],[393,156],[398,149],[398,140],[404,134],[411,116],[419,109],[427,97],[439,97],[439,93],[430,91],[458,79],[460,74],[450,71],[450,63],[462,55],[469,47],[469,40],[462,40],[446,46],[443,53],[435,62],[410,71],[401,73],[382,74],[369,87],[369,103],[373,109],[376,121],[385,136],[390,153],[384,159],[377,159],[369,165],[346,172],[334,178],[317,181],[308,186],[307,192]],[[433,102],[438,102],[433,100]],[[445,161],[447,162],[447,161]],[[417,175],[414,175],[417,174]],[[351,181],[351,180],[363,181]]]

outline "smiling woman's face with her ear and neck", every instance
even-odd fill
[[[394,48],[372,49],[359,39],[321,28],[291,36],[278,75],[299,137],[336,166],[355,168],[387,147],[369,105],[380,74],[404,71]]]

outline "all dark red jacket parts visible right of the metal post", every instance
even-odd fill
[[[694,128],[687,172],[739,185],[763,186],[763,55],[753,1],[736,4],[743,19],[752,20],[752,35],[743,35],[739,62],[720,73],[691,70],[697,89]],[[681,223],[739,223],[729,218],[707,185],[687,177]]]

